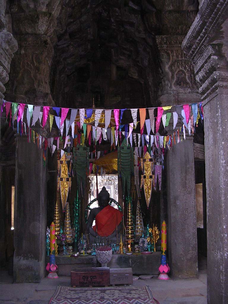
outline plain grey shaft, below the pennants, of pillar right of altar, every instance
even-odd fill
[[[174,279],[198,273],[195,172],[192,138],[173,145],[166,157],[168,257]]]

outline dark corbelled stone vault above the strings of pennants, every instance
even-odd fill
[[[157,106],[162,72],[155,36],[185,35],[197,10],[196,0],[8,1],[19,50],[6,92],[30,103],[50,94],[48,103],[63,107],[91,107],[93,98],[97,107]],[[29,69],[37,65],[35,75]]]

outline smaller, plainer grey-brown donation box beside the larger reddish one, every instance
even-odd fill
[[[132,268],[110,268],[110,285],[132,283]]]

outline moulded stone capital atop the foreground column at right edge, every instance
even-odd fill
[[[204,0],[182,43],[183,51],[194,64],[202,100],[228,93],[227,16],[227,0]]]

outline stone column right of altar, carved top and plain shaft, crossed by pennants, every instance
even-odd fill
[[[163,72],[159,98],[162,106],[182,105],[200,99],[193,66],[181,50],[183,39],[181,35],[156,36]],[[173,145],[167,153],[166,163],[167,188],[163,191],[167,191],[167,194],[163,193],[163,197],[167,195],[171,275],[173,278],[196,277],[197,230],[192,138]],[[167,206],[164,199],[161,200],[161,209]]]

